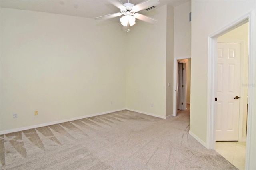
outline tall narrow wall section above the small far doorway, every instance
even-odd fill
[[[175,7],[174,12],[174,57],[191,56],[191,1]]]

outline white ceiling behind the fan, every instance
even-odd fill
[[[127,3],[127,0],[120,1],[122,3]],[[144,0],[129,0],[129,2],[134,5],[142,1]],[[160,4],[156,8],[165,4],[175,7],[188,1],[190,0],[159,0]],[[95,18],[120,12],[120,10],[112,5],[108,0],[0,0],[0,7],[49,12],[86,18]],[[145,14],[146,12],[146,10],[140,11],[142,14]]]

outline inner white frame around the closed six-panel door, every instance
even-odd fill
[[[245,47],[244,40],[217,40],[217,43],[239,43],[240,44],[240,82],[244,82],[244,57],[245,57]],[[240,83],[241,84],[241,83]],[[241,85],[240,85],[241,86]],[[244,111],[244,90],[240,87],[239,95],[242,96],[239,104],[239,125],[238,125],[238,142],[246,142],[242,138],[243,134],[243,111]],[[246,96],[247,99],[247,96]]]

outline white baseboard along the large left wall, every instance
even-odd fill
[[[64,123],[64,122],[74,121],[74,120],[78,120],[78,119],[84,119],[84,118],[87,118],[87,117],[104,115],[104,114],[107,114],[107,113],[112,113],[112,112],[117,112],[117,111],[122,111],[122,110],[125,110],[125,109],[116,109],[116,110],[112,110],[112,111],[106,111],[106,112],[95,113],[95,114],[91,114],[91,115],[74,117],[74,118],[71,118],[71,119],[64,119],[64,120],[60,120],[60,121],[54,121],[54,122],[49,122],[49,123],[42,123],[42,124],[39,124],[39,125],[32,125],[32,126],[28,126],[28,127],[15,128],[15,129],[10,129],[10,130],[3,130],[3,131],[0,131],[0,134],[20,132],[22,130],[29,130],[29,129],[32,129],[32,128],[45,127],[45,126],[54,125],[54,124],[58,124],[58,123]]]

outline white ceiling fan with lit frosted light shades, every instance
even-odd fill
[[[135,20],[142,20],[145,22],[148,22],[150,24],[154,24],[156,20],[153,18],[150,18],[148,16],[136,13],[138,11],[150,8],[158,5],[159,0],[145,0],[137,5],[129,3],[129,0],[127,3],[123,4],[120,0],[109,0],[110,3],[112,3],[114,6],[120,9],[120,12],[114,13],[114,14],[108,14],[100,17],[96,17],[96,20],[108,20],[110,18],[118,17],[121,15],[124,15],[120,18],[120,22],[123,26],[127,27],[127,32],[130,31],[130,26],[133,26],[135,24]]]

